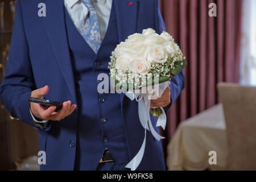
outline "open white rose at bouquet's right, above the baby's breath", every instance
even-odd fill
[[[167,53],[164,51],[164,47],[157,44],[150,44],[147,46],[144,57],[150,63],[164,63],[167,61]]]

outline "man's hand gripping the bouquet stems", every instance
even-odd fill
[[[151,96],[150,106],[151,107],[166,107],[166,106],[168,106],[168,104],[170,104],[170,102],[171,102],[171,93],[170,93],[170,91],[171,91],[171,89],[168,86],[166,88],[166,90],[164,90],[164,92],[163,92],[163,94],[160,98],[158,98],[158,96],[156,96],[156,94]]]

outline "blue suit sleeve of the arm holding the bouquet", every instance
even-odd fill
[[[160,12],[159,0],[155,0],[155,26],[156,32],[158,34],[162,34],[163,31],[166,31],[166,26],[164,24],[164,20]],[[174,102],[180,96],[181,91],[185,87],[184,72],[181,71],[179,75],[172,78],[171,84],[169,86],[171,88],[171,103],[170,105],[164,107],[164,110],[166,112],[168,111],[168,109],[170,109],[171,105],[174,104]]]

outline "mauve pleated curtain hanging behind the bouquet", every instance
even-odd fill
[[[217,17],[208,15],[212,2]],[[186,87],[162,131],[166,152],[180,122],[218,103],[217,82],[239,82],[242,0],[160,0],[160,9],[188,62]]]

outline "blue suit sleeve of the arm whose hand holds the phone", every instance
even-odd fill
[[[36,87],[23,27],[20,1],[16,2],[15,9],[9,59],[6,63],[5,76],[0,87],[1,100],[13,117],[36,127],[30,114],[30,102],[28,101],[28,97],[31,96],[32,90]]]

